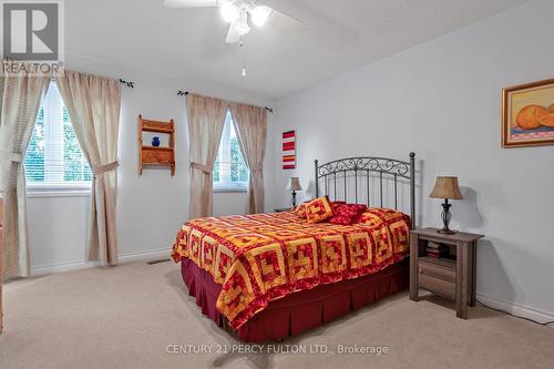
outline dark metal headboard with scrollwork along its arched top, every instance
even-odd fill
[[[398,186],[401,178],[409,180],[410,186],[410,217],[412,223],[412,228],[416,229],[416,153],[410,153],[409,162],[398,161],[388,157],[347,157],[332,161],[326,164],[319,165],[318,161],[315,163],[315,186],[316,186],[316,197],[320,196],[320,184],[322,180],[325,184],[325,194],[329,195],[328,189],[332,184],[334,189],[334,201],[337,201],[337,186],[340,185],[338,182],[342,182],[343,196],[340,199],[348,201],[348,180],[353,180],[353,192],[355,201],[358,203],[359,195],[361,192],[358,191],[358,180],[366,176],[367,185],[367,205],[371,206],[370,196],[370,175],[377,178],[379,182],[379,205],[383,207],[383,186],[386,185],[383,181],[388,184],[392,182],[393,186],[393,197],[394,197],[394,208],[398,209]],[[337,182],[338,181],[338,182]],[[351,183],[352,181],[350,181]],[[406,181],[400,181],[400,185],[406,184]],[[329,195],[330,196],[330,195]]]

